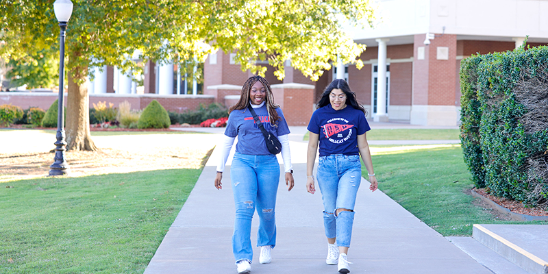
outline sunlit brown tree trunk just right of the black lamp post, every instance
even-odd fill
[[[75,77],[71,72],[66,77],[69,82],[69,94],[66,97],[66,150],[96,151],[97,147],[90,134],[88,87],[83,76],[86,70],[75,69]]]

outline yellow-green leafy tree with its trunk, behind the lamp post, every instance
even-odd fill
[[[58,49],[54,0],[0,3],[0,58]],[[284,63],[315,80],[338,58],[363,66],[357,45],[343,25],[370,26],[369,0],[73,0],[67,28],[66,69],[68,149],[95,150],[89,132],[85,77],[105,64],[123,71],[142,68],[131,60],[203,62],[221,49],[236,53],[242,70],[264,75],[268,60],[284,77]],[[17,16],[13,16],[17,14]],[[189,61],[190,60],[190,61]],[[181,66],[187,68],[189,66]],[[190,66],[192,67],[192,66]],[[183,71],[184,72],[184,71]]]

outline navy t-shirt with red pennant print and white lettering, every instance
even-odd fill
[[[312,114],[308,131],[319,134],[320,156],[331,154],[359,155],[358,135],[370,130],[364,112],[347,105],[334,110],[331,104]]]

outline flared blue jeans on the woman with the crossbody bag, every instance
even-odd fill
[[[276,194],[279,164],[275,155],[234,154],[230,167],[236,205],[232,252],[236,262],[253,260],[251,219],[257,208],[260,224],[257,246],[276,245]]]

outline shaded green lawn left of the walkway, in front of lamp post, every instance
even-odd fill
[[[0,188],[0,273],[143,273],[201,169]]]

